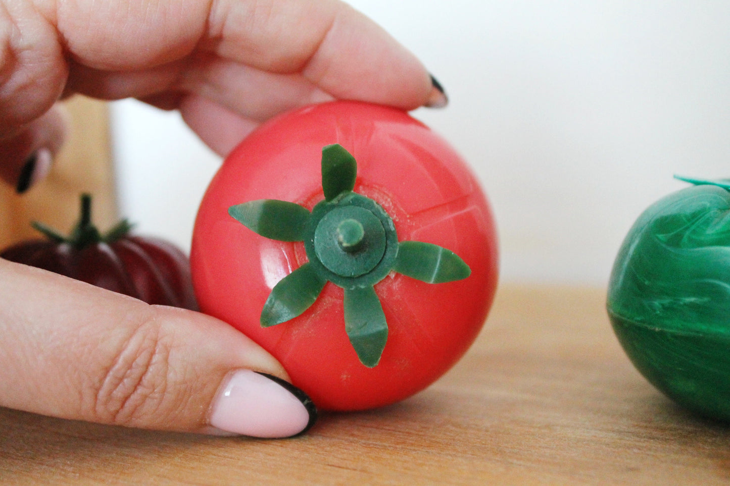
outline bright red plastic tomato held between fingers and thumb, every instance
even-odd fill
[[[345,162],[326,169],[331,147],[337,147],[335,158],[341,156]],[[356,161],[356,174],[353,167],[342,169],[350,163],[350,154]],[[333,183],[333,176],[328,175],[338,171],[345,172],[345,182],[335,179]],[[348,177],[351,182],[346,181]],[[320,252],[328,242],[334,242],[337,251],[351,241],[360,242],[363,227],[368,234],[372,213],[365,215],[362,224],[352,223],[352,217],[341,218],[327,230],[339,236],[320,238],[320,233],[327,233],[320,231],[325,225],[322,222],[331,215],[339,217],[339,205],[351,198],[374,201],[372,212],[380,215],[382,209],[389,216],[377,216],[385,221],[385,232],[391,231],[391,225],[397,234],[397,256],[396,250],[392,255],[391,250],[377,253],[385,255],[377,256],[383,261],[391,258],[388,255],[396,259],[394,271],[383,271],[377,258],[369,263],[368,256],[355,258],[358,269],[363,269],[346,270],[350,273],[342,278],[347,282],[350,277],[362,279],[375,271],[370,269],[380,269],[374,287],[372,282],[351,288],[339,283],[338,272],[342,272],[335,268],[337,263],[331,266],[326,251]],[[284,209],[276,204],[266,206],[269,203],[261,206],[261,200],[277,200],[274,202]],[[311,214],[297,212],[280,201],[298,204]],[[345,212],[353,212],[357,220],[361,209]],[[296,223],[299,216],[304,223],[316,220],[316,235],[314,229],[284,231],[277,227],[280,220]],[[266,226],[269,223],[273,229]],[[378,226],[382,233],[381,229]],[[377,246],[368,237],[364,240],[367,245]],[[414,246],[429,253],[428,258],[415,254],[418,252],[413,258],[401,258],[410,256],[412,252],[406,250]],[[350,258],[346,252],[343,255]],[[424,274],[431,271],[431,263],[443,258],[457,265],[459,257],[471,270],[468,277],[460,274],[456,281],[435,278],[445,283],[427,283],[429,276]],[[431,263],[424,266],[425,261]],[[330,281],[304,271],[314,263],[327,267],[325,272],[334,272]],[[443,139],[397,109],[336,101],[265,123],[228,156],[201,203],[191,266],[203,312],[231,323],[271,352],[283,363],[293,384],[320,408],[356,410],[411,396],[461,358],[491,306],[497,247],[485,196],[464,161]],[[306,277],[310,281],[299,287],[311,290],[315,298],[296,317],[288,315],[288,306],[297,306],[298,301],[283,296],[286,292],[281,288],[289,292],[297,285],[277,285],[285,279],[295,280],[294,274],[310,275]],[[316,282],[323,285],[320,293]],[[377,298],[367,293],[370,288]],[[368,312],[353,318],[352,309]],[[277,313],[278,317],[271,317]],[[369,341],[358,344],[358,339],[372,338],[371,314],[374,320],[380,315],[387,321],[387,331],[378,331],[384,349],[373,351]],[[358,326],[362,326],[360,334]]]

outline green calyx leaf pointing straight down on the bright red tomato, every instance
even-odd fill
[[[345,289],[345,332],[360,362],[376,366],[388,340],[388,323],[374,288]]]

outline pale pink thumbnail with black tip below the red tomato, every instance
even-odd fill
[[[316,420],[317,408],[303,391],[248,369],[228,374],[210,413],[210,425],[220,431],[268,439],[299,435]]]

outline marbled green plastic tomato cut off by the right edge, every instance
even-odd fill
[[[608,313],[623,349],[659,390],[730,420],[730,185],[698,185],[639,217],[616,258]]]

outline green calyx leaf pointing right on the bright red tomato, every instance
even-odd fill
[[[426,283],[453,282],[472,274],[456,253],[423,242],[400,242],[393,270]]]

